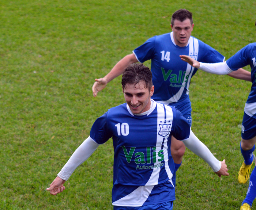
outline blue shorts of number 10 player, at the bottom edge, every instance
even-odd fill
[[[114,210],[172,210],[173,201],[166,203],[158,203],[154,205],[146,205],[140,207],[133,206],[114,206]]]

